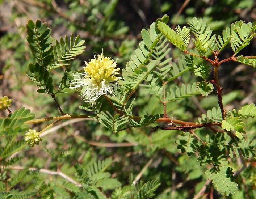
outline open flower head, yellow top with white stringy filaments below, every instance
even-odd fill
[[[118,86],[117,80],[121,79],[115,76],[119,74],[117,71],[120,70],[120,68],[115,68],[116,63],[117,60],[114,62],[113,59],[104,57],[102,49],[98,59],[94,55],[94,59],[89,60],[89,63],[85,61],[85,74],[82,74],[84,76],[81,78],[74,75],[75,79],[71,80],[70,88],[85,86],[82,89],[81,98],[92,104],[102,95],[113,94],[114,86]]]

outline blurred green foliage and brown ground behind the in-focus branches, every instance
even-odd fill
[[[236,20],[252,22],[255,25],[256,3],[253,0],[1,0],[0,96],[6,95],[13,100],[13,112],[24,106],[35,113],[36,118],[60,115],[53,99],[35,92],[36,87],[26,76],[28,64],[35,62],[26,41],[25,24],[29,19],[47,22],[48,27],[52,29],[54,41],[65,35],[70,37],[71,33],[85,39],[85,52],[70,61],[70,68],[75,71],[82,69],[84,60],[88,62],[95,54],[100,54],[102,48],[105,56],[114,60],[118,58],[118,67],[124,68],[142,40],[141,29],[148,28],[163,14],[170,16],[170,27],[183,26],[188,20],[198,17],[206,21],[215,34],[221,34],[223,29]],[[242,50],[241,54],[250,56],[255,55],[255,52],[254,38],[251,45]],[[171,51],[174,61],[180,55],[178,49]],[[223,59],[232,56],[231,48],[225,50],[222,55]],[[59,85],[64,69],[63,67],[53,71],[54,86]],[[252,67],[227,62],[226,65],[222,64],[219,70],[220,84],[224,88],[223,103],[227,110],[256,102],[256,72]],[[193,82],[191,78],[195,77],[188,74],[182,78],[183,82],[189,83]],[[179,82],[174,82],[173,87],[177,83]],[[133,97],[138,97],[134,110],[139,116],[163,113],[159,99],[151,97],[148,91],[137,90]],[[86,114],[86,111],[78,108],[83,101],[77,93],[69,91],[69,95],[59,94],[56,98],[64,113]],[[207,98],[199,96],[168,103],[167,113],[175,119],[195,122],[205,109],[212,107],[217,107],[215,94]],[[7,114],[7,111],[0,111],[1,117],[6,117]],[[40,130],[48,124],[36,124],[33,128]],[[26,146],[19,151],[22,159],[18,164],[23,167],[61,170],[69,175],[74,173],[72,166],[76,162],[86,166],[98,160],[112,158],[113,163],[108,172],[118,179],[122,186],[129,183],[130,173],[143,181],[159,180],[161,185],[155,196],[158,199],[193,198],[207,181],[207,176],[198,169],[196,156],[182,156],[176,149],[175,140],[182,132],[165,130],[150,133],[153,126],[148,126],[113,134],[94,120],[70,120],[57,127],[58,129],[49,131],[43,137],[39,146]],[[255,132],[253,125],[251,130]],[[199,135],[209,133],[205,129],[197,132]],[[124,142],[131,143],[131,146],[122,146]],[[116,147],[116,143],[121,147]],[[56,155],[53,155],[58,156],[68,147],[72,147],[72,150],[66,157],[56,158]],[[238,179],[244,186],[239,187],[240,190],[255,187],[255,167],[252,170],[245,170],[244,178]],[[15,172],[10,171],[8,175]],[[32,176],[33,181],[38,184],[42,178],[47,182],[63,182],[59,176],[30,176],[31,179],[26,177],[19,189],[30,189],[32,183],[29,181]],[[208,186],[207,189],[210,190],[211,187]],[[256,192],[249,190],[251,192],[247,194],[239,191],[230,198],[256,198]],[[217,191],[214,194],[214,198],[224,197]],[[106,195],[110,197],[111,191],[106,192]]]

